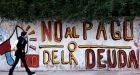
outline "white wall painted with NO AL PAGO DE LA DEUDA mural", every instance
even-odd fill
[[[26,61],[32,70],[127,70],[139,68],[140,19],[0,22],[0,70],[15,61],[17,37],[28,33]],[[17,71],[24,70],[22,63]]]

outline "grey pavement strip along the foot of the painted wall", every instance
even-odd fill
[[[0,75],[8,75],[8,72],[0,72]],[[14,72],[14,75],[28,75],[26,72]],[[140,75],[136,71],[46,71],[36,72],[34,75]]]

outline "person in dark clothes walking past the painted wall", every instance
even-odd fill
[[[16,56],[16,59],[15,59],[15,62],[14,64],[12,65],[12,68],[10,69],[9,71],[9,75],[13,75],[13,71],[16,67],[16,65],[18,64],[18,61],[19,59],[21,59],[22,63],[24,64],[24,67],[26,69],[26,72],[28,73],[28,75],[32,75],[32,74],[35,74],[35,72],[31,72],[30,69],[28,68],[28,65],[26,63],[26,60],[25,60],[25,46],[27,44],[27,32],[23,31],[21,32],[21,36],[18,37],[18,43],[17,43],[17,51],[15,52],[15,56]]]

